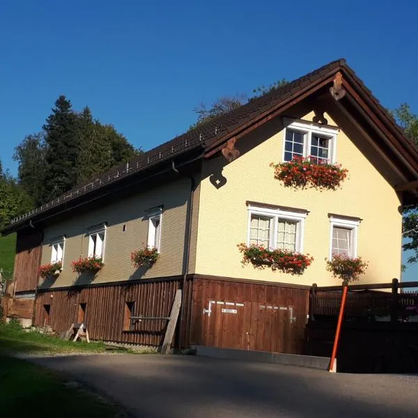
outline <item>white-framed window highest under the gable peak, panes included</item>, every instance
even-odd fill
[[[287,121],[284,128],[283,161],[310,157],[312,162],[335,162],[337,128],[309,122]]]

